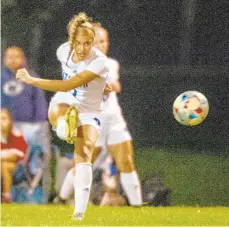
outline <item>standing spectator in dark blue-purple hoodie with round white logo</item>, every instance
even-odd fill
[[[1,97],[2,107],[7,108],[29,146],[28,152],[34,145],[41,146],[44,151],[45,201],[48,201],[51,176],[49,170],[50,130],[47,122],[47,102],[44,91],[17,81],[15,73],[20,68],[27,68],[24,52],[19,47],[9,47],[4,53],[2,67]],[[37,76],[29,70],[31,75]]]

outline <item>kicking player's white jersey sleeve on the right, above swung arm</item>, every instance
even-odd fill
[[[107,58],[103,56],[97,57],[91,61],[85,70],[91,71],[99,77],[106,78],[108,72]]]

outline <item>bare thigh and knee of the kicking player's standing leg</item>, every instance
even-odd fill
[[[92,153],[99,137],[98,130],[92,125],[81,125],[77,130],[75,142],[75,164],[91,163]]]

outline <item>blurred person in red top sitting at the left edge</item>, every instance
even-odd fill
[[[3,202],[11,202],[13,172],[17,163],[25,158],[27,143],[22,133],[13,128],[13,121],[7,109],[1,109],[1,176]]]

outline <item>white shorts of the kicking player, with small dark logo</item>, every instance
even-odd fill
[[[65,103],[70,106],[75,106],[79,110],[79,124],[81,125],[92,125],[98,132],[101,130],[101,114],[98,113],[81,113],[79,102],[69,92],[57,92],[49,103],[49,110],[52,109],[56,104]]]

